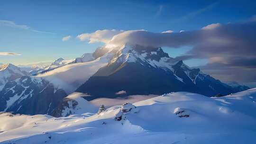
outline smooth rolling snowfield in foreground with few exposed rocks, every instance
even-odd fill
[[[254,144],[256,89],[221,98],[175,92],[95,115],[0,115],[0,144]],[[115,117],[122,116],[120,121]]]

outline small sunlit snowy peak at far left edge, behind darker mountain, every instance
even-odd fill
[[[0,90],[8,81],[14,81],[25,75],[28,75],[28,73],[11,63],[0,65]]]

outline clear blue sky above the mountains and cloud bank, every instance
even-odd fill
[[[91,53],[103,43],[75,38],[96,30],[145,29],[151,32],[198,30],[212,23],[235,23],[256,14],[247,0],[1,0],[0,63],[26,64],[71,59]],[[15,24],[6,25],[4,22]],[[63,42],[64,36],[72,36]],[[167,49],[170,56],[189,48]],[[190,60],[190,66],[206,63]]]

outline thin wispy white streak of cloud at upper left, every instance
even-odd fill
[[[10,20],[0,20],[0,25],[6,26],[6,27],[14,27],[14,28],[19,28],[19,29],[31,30],[31,31],[37,32],[37,33],[55,34],[55,33],[51,33],[51,32],[35,30],[35,29],[32,29],[31,27],[28,27],[27,25],[18,25],[14,21],[10,21]]]

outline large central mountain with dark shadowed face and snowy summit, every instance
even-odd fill
[[[246,90],[245,88],[243,90]],[[189,68],[182,61],[173,62],[161,48],[143,48],[124,45],[110,60],[76,91],[93,97],[115,98],[124,90],[128,95],[162,94],[172,91],[190,91],[207,96],[227,95],[241,89],[231,87],[204,74],[200,69]]]

